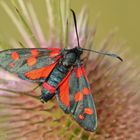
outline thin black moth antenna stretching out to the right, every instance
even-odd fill
[[[98,53],[98,54],[101,54],[101,55],[107,55],[107,56],[110,56],[110,57],[118,58],[120,61],[123,61],[123,59],[122,59],[120,56],[118,56],[118,55],[116,55],[116,54],[113,54],[113,53],[98,52],[98,51],[89,50],[89,49],[85,49],[85,48],[82,48],[82,50],[90,51],[90,52],[94,52],[94,53]]]

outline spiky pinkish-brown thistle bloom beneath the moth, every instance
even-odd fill
[[[62,8],[58,17],[61,18],[56,22],[54,8],[51,2],[46,0],[50,26],[50,39],[46,41],[32,4],[24,1],[13,2],[18,17],[5,2],[1,2],[24,39],[24,43],[12,40],[10,43],[13,47],[74,47],[76,45],[73,24],[69,25],[68,30],[66,27],[64,13],[67,16],[69,14],[63,10],[65,3],[60,3]],[[58,21],[61,23],[60,30]],[[85,10],[82,10],[78,16],[78,32],[81,46],[91,48],[96,27],[93,29],[88,27]],[[110,34],[101,43],[102,51],[107,50],[112,36]],[[118,54],[122,51],[121,44],[112,47],[118,49],[116,51]],[[20,80],[13,74],[1,70],[1,77],[3,75],[5,77],[0,81],[0,138],[3,140],[138,140],[140,136],[139,69],[133,68],[134,64],[129,59],[120,63],[97,54],[91,54],[89,57],[89,54],[85,53],[84,57],[98,114],[98,128],[95,133],[85,132],[79,127],[70,116],[61,111],[55,99],[42,104],[38,98],[40,89],[27,92],[31,91],[35,84]]]

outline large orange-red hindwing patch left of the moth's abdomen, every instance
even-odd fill
[[[46,78],[49,76],[50,72],[53,70],[53,68],[55,67],[55,65],[58,62],[55,62],[49,66],[45,66],[39,69],[35,69],[29,72],[25,73],[25,77],[31,79],[31,80],[35,80],[35,79],[40,79],[40,78]]]

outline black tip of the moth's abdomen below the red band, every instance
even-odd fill
[[[44,87],[41,90],[40,101],[42,103],[47,102],[48,100],[52,99],[55,93],[51,93],[49,90],[45,89]]]

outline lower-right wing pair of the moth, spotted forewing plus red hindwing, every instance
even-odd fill
[[[85,130],[95,131],[97,114],[84,67],[74,67],[71,74],[59,87],[56,94],[59,106]]]

